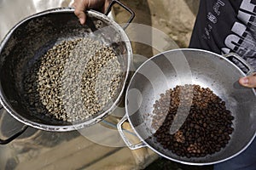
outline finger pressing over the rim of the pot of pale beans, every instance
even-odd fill
[[[86,14],[84,11],[88,8],[90,0],[75,0],[73,6],[75,7],[74,14],[78,16],[82,25],[85,24]]]

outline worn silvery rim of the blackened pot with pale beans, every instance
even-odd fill
[[[50,8],[50,9],[44,10],[42,12],[32,14],[32,15],[26,17],[23,20],[20,20],[20,22],[18,22],[13,28],[11,28],[10,31],[7,33],[7,35],[5,37],[3,37],[3,41],[0,43],[0,54],[2,53],[3,47],[5,46],[5,44],[9,41],[9,37],[11,37],[11,35],[14,33],[14,31],[19,26],[26,23],[26,21],[36,19],[36,18],[44,16],[46,14],[61,14],[61,13],[66,13],[66,14],[74,13],[74,8]],[[102,14],[102,13],[97,12],[97,11],[92,10],[92,9],[86,11],[86,14],[88,14],[89,16],[90,15],[95,16],[95,17],[98,17],[102,20],[108,21],[110,26],[114,26],[115,28],[117,28],[121,37],[123,38],[121,41],[125,42],[125,46],[127,48],[126,53],[127,53],[127,56],[128,56],[127,63],[126,63],[127,69],[126,69],[126,73],[125,73],[125,79],[124,79],[124,82],[122,84],[122,88],[119,91],[119,95],[118,95],[117,99],[115,99],[115,101],[113,101],[113,105],[111,105],[106,111],[104,111],[102,114],[100,114],[100,115],[98,115],[98,116],[96,116],[92,119],[85,120],[84,122],[79,122],[77,124],[75,122],[74,123],[71,122],[70,125],[63,125],[63,126],[61,126],[61,125],[50,125],[50,124],[38,123],[38,122],[28,120],[24,116],[20,116],[19,113],[14,111],[12,106],[9,105],[9,102],[7,102],[7,99],[3,94],[2,85],[0,83],[0,103],[1,103],[1,105],[3,105],[3,108],[6,111],[8,111],[9,114],[11,116],[13,116],[19,122],[22,122],[22,123],[24,123],[24,124],[26,124],[30,127],[35,127],[35,128],[45,130],[45,131],[67,132],[67,131],[79,130],[81,128],[89,127],[93,124],[96,124],[97,122],[101,122],[102,119],[104,119],[106,116],[110,115],[112,113],[112,111],[117,107],[117,104],[119,103],[119,100],[121,99],[121,97],[122,97],[122,95],[125,91],[125,84],[127,82],[127,79],[129,77],[129,74],[130,74],[130,71],[131,71],[131,64],[132,64],[132,61],[133,61],[131,42],[130,42],[129,38],[127,37],[125,31],[122,29],[122,27],[119,26],[119,24],[117,24],[114,20],[109,19],[107,15]],[[78,22],[79,22],[79,20],[78,20]]]

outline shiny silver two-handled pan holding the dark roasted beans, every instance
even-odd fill
[[[253,141],[256,135],[256,94],[253,88],[243,88],[237,82],[246,74],[233,62],[240,60],[247,67],[247,74],[252,68],[236,54],[229,59],[222,55],[199,49],[176,49],[155,55],[141,65],[131,78],[125,95],[126,115],[119,122],[119,133],[131,150],[148,146],[160,156],[172,161],[190,165],[209,165],[226,161],[240,154]],[[169,88],[177,85],[198,84],[212,89],[226,103],[226,107],[235,116],[234,132],[230,142],[219,152],[205,157],[188,158],[177,156],[171,150],[164,149],[155,142],[155,129],[151,127],[154,102],[160,99]],[[149,114],[149,116],[148,116]],[[128,120],[141,143],[131,144],[122,130],[122,124]]]

